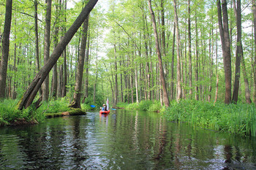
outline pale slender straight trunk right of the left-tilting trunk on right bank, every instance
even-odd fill
[[[179,33],[178,33],[178,13],[176,8],[176,0],[173,0],[175,23],[176,23],[176,51],[177,51],[177,101],[181,99],[181,58],[179,50]]]

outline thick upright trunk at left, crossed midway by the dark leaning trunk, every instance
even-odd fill
[[[46,9],[46,17],[45,17],[44,63],[47,63],[49,55],[50,55],[51,4],[52,4],[52,0],[48,0],[47,1],[47,9]],[[45,78],[45,82],[42,85],[42,100],[48,101],[48,99],[49,99],[49,75],[47,75],[47,77]]]

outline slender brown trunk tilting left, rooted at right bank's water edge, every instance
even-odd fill
[[[154,18],[154,12],[151,7],[151,0],[148,0],[148,8],[151,13],[151,19],[152,19],[152,24],[153,24],[153,28],[154,28],[154,37],[155,37],[155,43],[156,43],[156,48],[157,48],[157,56],[158,56],[158,62],[159,62],[159,73],[160,73],[160,79],[162,81],[164,103],[165,103],[165,107],[169,107],[170,101],[168,98],[167,89],[165,87],[165,76],[164,76],[164,70],[162,68],[162,56],[161,56],[161,51],[159,48],[159,40],[158,40],[158,36],[157,36],[157,25],[156,25],[156,20]]]

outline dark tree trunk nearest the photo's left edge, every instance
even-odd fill
[[[2,55],[0,61],[0,99],[5,97],[5,88],[7,80],[7,65],[10,47],[10,31],[12,23],[12,0],[6,1],[4,20],[4,33],[2,39]]]

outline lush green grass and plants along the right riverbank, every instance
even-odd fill
[[[195,100],[181,100],[171,104],[165,110],[167,120],[187,122],[211,128],[216,131],[228,131],[233,134],[255,136],[256,112],[254,105],[222,104]]]

